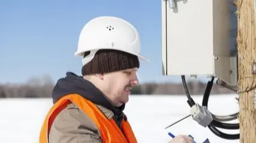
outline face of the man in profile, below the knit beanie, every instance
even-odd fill
[[[103,75],[105,91],[114,106],[121,106],[128,102],[130,90],[138,84],[138,68],[117,71]]]

